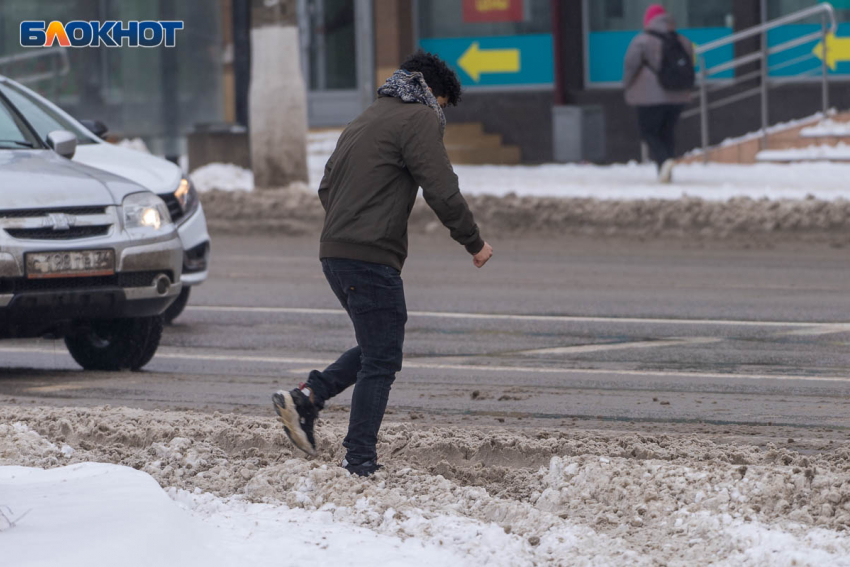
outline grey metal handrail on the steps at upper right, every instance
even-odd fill
[[[801,20],[806,20],[808,18],[812,18],[814,16],[821,17],[821,29],[819,32],[813,32],[810,34],[806,34],[801,37],[797,37],[791,39],[789,41],[783,42],[779,45],[775,45],[773,47],[767,46],[767,32],[770,30],[792,24],[795,22],[799,22]],[[766,19],[766,15],[763,12],[762,18]],[[732,35],[722,37],[720,39],[714,40],[712,42],[706,43],[704,45],[700,45],[697,47],[694,52],[699,61],[699,98],[700,105],[698,108],[690,110],[683,114],[683,117],[694,116],[696,114],[700,114],[700,126],[702,130],[702,151],[703,151],[703,160],[708,161],[708,148],[709,148],[709,122],[708,122],[708,111],[716,108],[722,108],[729,104],[733,104],[740,100],[761,95],[762,98],[762,147],[767,147],[767,129],[769,126],[769,112],[768,112],[768,88],[769,88],[769,72],[775,69],[782,69],[789,67],[791,63],[785,61],[774,67],[769,67],[768,58],[770,55],[774,55],[776,53],[781,53],[783,51],[787,51],[789,49],[793,49],[794,47],[798,47],[800,45],[804,45],[811,41],[821,39],[823,45],[823,53],[821,54],[821,77],[822,77],[822,94],[821,94],[821,102],[823,105],[823,112],[826,114],[829,110],[829,75],[827,70],[827,50],[829,48],[827,37],[829,34],[835,34],[838,30],[838,22],[835,18],[835,9],[832,7],[830,3],[818,4],[817,6],[812,6],[811,8],[806,8],[804,10],[800,10],[798,12],[794,12],[793,14],[788,14],[787,16],[783,16],[781,18],[777,18],[771,21],[764,21],[762,24],[753,26],[746,30],[739,31],[737,33],[733,33]],[[714,67],[708,68],[706,66],[706,57],[705,54],[709,51],[713,51],[720,47],[726,47],[728,45],[734,45],[739,41],[743,41],[745,39],[750,39],[752,37],[759,36],[761,37],[761,49],[758,52],[748,53],[746,55],[742,55],[740,57],[734,58],[731,61],[727,61],[725,63],[721,63],[719,65],[715,65]],[[797,57],[792,61],[794,64],[803,62],[807,59],[815,57],[814,54],[808,54],[803,57]],[[723,85],[719,88],[709,88],[708,85],[708,77],[712,75],[717,75],[724,71],[729,71],[733,69],[737,69],[743,65],[747,65],[750,63],[760,63],[760,70],[755,72],[746,73],[740,77],[736,77],[729,81],[725,81]],[[809,76],[812,75],[814,70],[809,70],[803,73],[800,73],[800,76]],[[743,92],[735,93],[726,97],[725,99],[714,101],[709,103],[708,94],[709,92],[715,92],[717,90],[721,90],[724,88],[729,88],[733,86],[737,86],[741,83],[751,81],[755,78],[761,78],[761,85],[758,87],[748,89]]]

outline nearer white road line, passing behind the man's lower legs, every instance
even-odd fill
[[[0,353],[33,353],[54,354],[53,350],[39,348],[0,348]],[[70,355],[66,355],[70,358]],[[310,364],[316,368],[322,368],[331,364],[330,359],[311,358],[289,358],[278,356],[246,356],[228,354],[207,353],[176,353],[159,352],[154,357],[154,362],[159,359],[171,360],[206,360],[219,362],[262,362],[280,365]],[[457,370],[461,372],[512,372],[515,374],[569,374],[569,375],[592,375],[592,376],[635,376],[655,378],[687,378],[687,379],[721,379],[721,380],[781,380],[781,381],[803,381],[803,382],[850,382],[850,376],[786,376],[770,374],[723,374],[713,372],[673,372],[665,370],[606,370],[602,368],[551,368],[551,367],[529,367],[529,366],[487,366],[475,364],[438,364],[428,362],[417,362],[416,359],[407,359],[404,368],[419,370]],[[284,371],[286,369],[282,369]]]

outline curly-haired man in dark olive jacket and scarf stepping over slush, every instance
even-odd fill
[[[460,194],[443,145],[443,108],[459,101],[460,82],[443,61],[422,51],[412,55],[342,133],[319,185],[326,212],[322,270],[354,324],[357,346],[272,400],[292,443],[315,455],[319,411],[353,385],[342,466],[360,476],[381,466],[378,430],[401,370],[407,322],[401,269],[418,188],[476,267],[493,254]]]

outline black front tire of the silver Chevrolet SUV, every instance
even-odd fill
[[[86,370],[140,370],[156,354],[162,326],[161,316],[92,321],[65,345]]]

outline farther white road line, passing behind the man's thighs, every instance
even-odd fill
[[[188,311],[212,313],[281,313],[293,315],[346,315],[342,309],[312,309],[306,307],[238,307],[221,305],[189,305]],[[741,327],[800,327],[830,325],[850,331],[850,323],[807,321],[741,321],[734,319],[658,319],[642,317],[581,317],[571,315],[504,315],[498,313],[462,313],[454,311],[409,311],[411,317],[438,319],[473,319],[494,321],[546,321],[550,323],[637,323],[652,325],[729,325]]]

